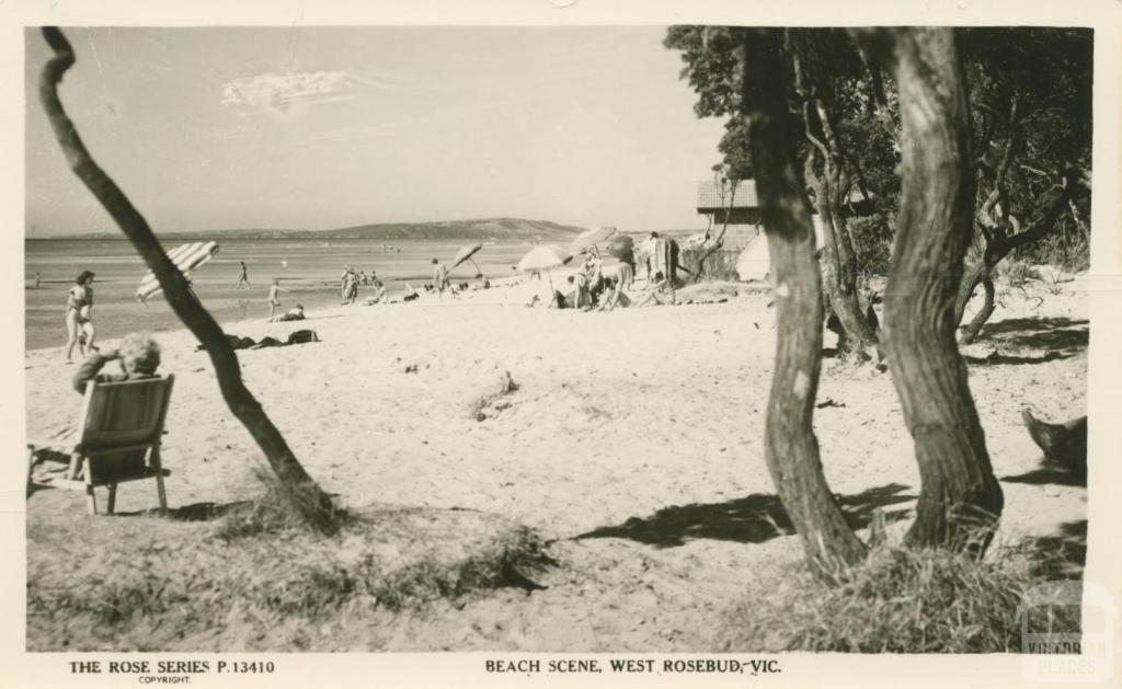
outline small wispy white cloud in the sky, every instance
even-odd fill
[[[222,86],[222,103],[243,112],[264,112],[280,120],[300,118],[313,104],[349,101],[358,91],[384,89],[381,80],[343,71],[258,74]]]

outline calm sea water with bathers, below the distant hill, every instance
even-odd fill
[[[171,250],[180,242],[168,242]],[[195,294],[219,322],[236,321],[268,314],[268,288],[273,278],[291,290],[282,293],[282,309],[303,304],[307,311],[339,303],[339,277],[347,264],[367,275],[377,272],[390,294],[405,282],[420,287],[431,282],[433,258],[451,264],[463,246],[449,241],[394,241],[387,245],[374,240],[226,240],[219,242],[218,255],[191,275]],[[388,247],[392,246],[390,250]],[[61,347],[66,342],[63,314],[66,291],[82,270],[93,270],[94,323],[98,338],[117,338],[137,330],[177,330],[183,325],[168,307],[163,295],[136,301],[136,290],[147,267],[123,240],[45,240],[24,242],[25,329],[27,349]],[[475,261],[488,277],[513,274],[513,266],[532,247],[525,241],[484,245]],[[249,269],[250,287],[238,288],[240,266]],[[35,274],[40,276],[35,288]],[[469,281],[476,274],[470,261],[452,270],[453,282]],[[373,294],[373,286],[359,287],[359,300]]]

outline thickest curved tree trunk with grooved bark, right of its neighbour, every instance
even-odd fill
[[[883,339],[922,480],[907,542],[981,553],[1003,496],[955,343],[975,189],[966,94],[953,29],[893,34],[902,189]]]

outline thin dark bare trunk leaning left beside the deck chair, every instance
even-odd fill
[[[75,62],[74,50],[63,33],[55,27],[45,27],[43,36],[55,57],[46,64],[40,75],[39,99],[71,169],[109,211],[156,275],[172,310],[205,346],[214,365],[222,397],[261,448],[277,479],[287,489],[293,507],[314,529],[322,533],[334,533],[338,524],[330,497],[304,471],[280,432],[246,388],[238,357],[227,343],[222,329],[194,297],[186,278],[167,258],[148,222],[86,150],[58,99],[58,83]]]

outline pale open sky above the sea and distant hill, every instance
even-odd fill
[[[67,28],[62,100],[159,232],[517,217],[703,227],[719,159],[662,27]],[[26,236],[113,230],[26,35]]]

